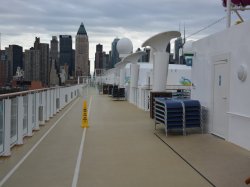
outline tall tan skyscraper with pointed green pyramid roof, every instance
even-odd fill
[[[81,23],[75,46],[75,76],[89,76],[89,39],[83,23]]]

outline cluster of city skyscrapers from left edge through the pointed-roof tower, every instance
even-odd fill
[[[59,35],[59,41],[52,36],[50,44],[35,37],[33,47],[24,50],[22,46],[9,45],[0,50],[0,86],[16,86],[21,81],[22,89],[40,88],[73,83],[76,76],[89,76],[89,43],[83,23],[77,32],[75,49],[71,35]]]

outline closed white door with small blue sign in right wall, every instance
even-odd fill
[[[222,138],[228,136],[229,63],[227,60],[214,64],[214,109],[213,134]]]

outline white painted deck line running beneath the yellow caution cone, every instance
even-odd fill
[[[89,117],[91,103],[92,103],[92,96],[91,96],[90,101],[89,101],[88,117]],[[71,187],[77,187],[78,177],[79,177],[79,173],[80,173],[81,160],[82,160],[82,155],[83,155],[85,135],[86,135],[86,131],[87,131],[86,129],[87,128],[83,129],[81,145],[80,145],[80,148],[79,148],[79,153],[78,153],[78,157],[77,157],[77,161],[76,161],[76,167],[75,167],[75,172],[74,172],[74,177],[73,177]]]

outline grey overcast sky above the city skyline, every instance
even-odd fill
[[[221,0],[0,0],[2,49],[17,44],[28,49],[35,37],[49,43],[52,36],[73,37],[84,23],[90,42],[93,64],[95,46],[101,43],[108,52],[114,38],[128,37],[134,50],[154,34],[181,30],[186,36],[225,16]],[[250,11],[243,17],[250,18]],[[233,22],[236,20],[233,15]],[[196,40],[221,31],[225,19],[189,39]],[[93,65],[92,65],[93,68]]]

